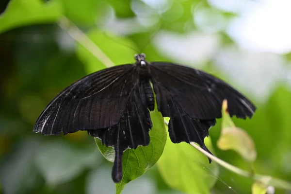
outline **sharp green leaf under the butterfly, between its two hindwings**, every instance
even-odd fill
[[[156,106],[157,107],[157,106]],[[150,113],[153,128],[149,132],[150,143],[147,146],[138,146],[136,149],[128,149],[123,155],[123,177],[116,184],[116,194],[120,194],[124,186],[131,180],[142,176],[146,170],[151,168],[161,157],[167,140],[167,133],[161,112]],[[114,150],[112,147],[102,145],[100,139],[95,138],[97,146],[103,156],[113,162]]]

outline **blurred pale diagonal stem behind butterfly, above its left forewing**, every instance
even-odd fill
[[[58,24],[74,40],[79,42],[85,49],[99,59],[106,67],[109,68],[115,66],[112,60],[110,60],[110,58],[108,58],[108,56],[68,18],[61,18]]]

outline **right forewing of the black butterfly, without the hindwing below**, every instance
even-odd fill
[[[227,100],[231,116],[252,117],[256,107],[241,93],[218,78],[192,68],[171,64],[151,63],[154,91],[159,110],[167,116],[170,95],[191,118],[211,120],[221,117],[221,105]]]

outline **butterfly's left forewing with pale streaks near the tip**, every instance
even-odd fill
[[[74,133],[117,124],[133,88],[133,65],[97,71],[58,94],[43,110],[33,131],[44,135]]]

